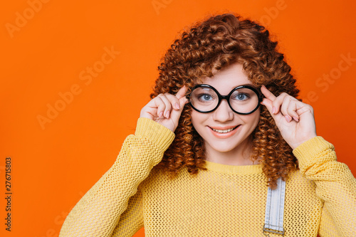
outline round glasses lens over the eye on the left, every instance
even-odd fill
[[[190,102],[195,109],[207,112],[214,110],[219,103],[219,97],[211,88],[199,87],[192,91]]]

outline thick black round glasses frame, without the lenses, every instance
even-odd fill
[[[210,88],[211,90],[214,90],[214,92],[216,93],[216,95],[218,95],[219,101],[218,101],[216,107],[214,107],[213,110],[201,111],[201,110],[198,110],[196,107],[194,107],[194,105],[192,104],[192,101],[191,101],[191,95],[192,95],[193,91],[194,91],[195,89],[197,89],[197,88]],[[239,89],[241,89],[241,88],[248,88],[248,89],[252,90],[254,93],[256,93],[256,95],[257,95],[258,104],[257,104],[257,106],[256,106],[251,112],[237,112],[236,110],[234,110],[234,109],[232,108],[232,106],[231,106],[231,104],[230,104],[230,96],[232,95],[232,93],[234,93],[235,90],[239,90]],[[234,111],[234,112],[236,112],[236,114],[239,114],[239,115],[249,115],[249,114],[255,112],[255,111],[258,109],[258,107],[260,107],[260,104],[261,104],[261,102],[262,102],[262,100],[263,100],[263,95],[261,95],[261,93],[258,93],[258,90],[256,90],[256,88],[253,88],[253,87],[250,86],[250,85],[239,85],[238,87],[232,89],[231,92],[229,93],[229,95],[220,95],[220,93],[219,93],[218,90],[216,90],[215,88],[213,88],[211,85],[207,85],[207,84],[195,85],[194,88],[192,88],[192,92],[189,93],[189,95],[188,95],[189,105],[192,106],[192,108],[193,108],[194,110],[197,110],[198,112],[202,112],[202,113],[213,112],[214,110],[216,110],[216,109],[219,107],[219,105],[220,105],[220,103],[221,103],[221,100],[224,100],[224,99],[225,99],[225,100],[227,101],[227,103],[229,104],[229,107],[231,108],[231,110]]]

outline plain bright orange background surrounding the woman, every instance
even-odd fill
[[[135,131],[159,58],[184,26],[226,11],[264,23],[280,41],[315,109],[318,135],[356,174],[355,1],[43,2],[0,7],[1,236],[58,236],[70,209]],[[105,48],[120,53],[110,58]],[[92,76],[86,70],[93,66],[99,73]],[[70,91],[73,98],[61,103]],[[48,117],[55,105],[61,111],[41,126],[38,115]],[[6,157],[11,233],[4,230]],[[135,236],[144,236],[143,228]]]

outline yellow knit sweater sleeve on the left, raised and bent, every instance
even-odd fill
[[[128,236],[122,230],[132,236],[138,231],[143,216],[137,187],[173,139],[174,133],[163,125],[139,118],[135,135],[125,139],[112,167],[73,207],[59,236]]]

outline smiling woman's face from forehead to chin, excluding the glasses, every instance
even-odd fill
[[[251,85],[240,63],[219,70],[211,78],[204,78],[203,83],[216,88],[220,95],[228,95],[239,85]],[[250,115],[237,114],[231,110],[226,100],[221,100],[219,107],[213,112],[192,110],[192,124],[204,139],[206,152],[209,154],[244,149],[251,143],[248,137],[256,128],[259,117],[259,109]],[[231,129],[234,130],[230,131]]]

